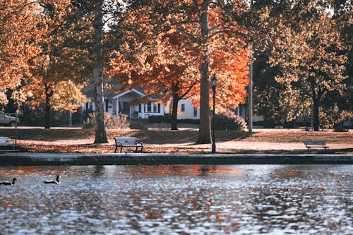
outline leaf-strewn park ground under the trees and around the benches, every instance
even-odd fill
[[[1,127],[0,136],[15,139],[16,129]],[[95,131],[88,128],[18,127],[17,143],[28,152],[81,152],[112,153],[114,137],[136,137],[145,145],[144,152],[208,153],[210,144],[196,145],[197,126],[179,125],[178,131],[167,125],[150,125],[145,130],[107,129],[109,143],[93,144]],[[326,140],[328,153],[353,154],[353,131],[332,130],[311,132],[303,129],[254,129],[246,131],[216,131],[216,147],[219,153],[306,153],[305,140]],[[126,150],[128,151],[128,150]],[[311,153],[323,153],[323,148]]]

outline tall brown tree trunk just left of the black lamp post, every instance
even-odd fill
[[[198,131],[198,144],[211,143],[210,133],[210,74],[208,71],[208,6],[210,1],[205,0],[201,12],[201,92],[200,92],[200,126]]]

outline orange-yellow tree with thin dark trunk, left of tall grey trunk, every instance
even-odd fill
[[[75,112],[85,102],[81,83],[88,77],[85,64],[90,64],[87,50],[75,42],[80,35],[71,26],[71,1],[38,1],[42,10],[37,28],[43,33],[38,39],[40,53],[30,60],[32,76],[23,86],[32,93],[28,104],[44,104],[45,128],[50,128],[52,109]],[[71,21],[71,22],[70,22]]]

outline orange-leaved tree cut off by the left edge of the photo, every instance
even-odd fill
[[[37,40],[43,31],[37,28],[40,11],[30,0],[0,1],[0,104],[8,102],[6,92],[21,102],[30,94],[20,85],[30,77],[28,61],[40,52]]]

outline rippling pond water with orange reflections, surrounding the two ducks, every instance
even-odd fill
[[[352,169],[0,167],[0,234],[352,234]]]

